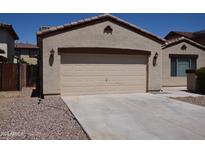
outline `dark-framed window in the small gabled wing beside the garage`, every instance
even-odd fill
[[[171,58],[171,76],[186,76],[187,69],[196,69],[196,58]]]

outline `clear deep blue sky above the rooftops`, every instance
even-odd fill
[[[20,42],[36,43],[40,26],[56,26],[96,16],[96,13],[78,14],[0,14],[0,22],[12,24]],[[205,29],[205,14],[113,14],[160,37],[169,31],[198,31]]]

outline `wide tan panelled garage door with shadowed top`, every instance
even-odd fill
[[[146,55],[61,54],[61,95],[146,92]]]

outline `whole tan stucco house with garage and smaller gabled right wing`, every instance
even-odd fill
[[[184,69],[178,57],[191,57],[190,68],[205,66],[203,45],[187,38],[167,41],[110,14],[43,27],[37,41],[43,95],[159,91],[186,85],[185,77],[176,77],[176,69]]]

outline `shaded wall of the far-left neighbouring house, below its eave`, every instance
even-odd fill
[[[0,48],[5,50],[3,56],[10,59],[13,62],[14,56],[14,39],[13,37],[5,30],[0,30]]]

